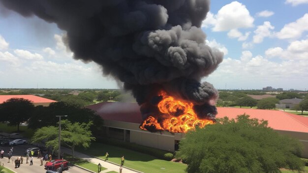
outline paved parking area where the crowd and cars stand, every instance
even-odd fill
[[[40,159],[33,157],[33,165],[30,165],[30,161],[28,164],[26,163],[25,151],[27,148],[31,148],[31,147],[35,147],[35,146],[32,144],[15,145],[13,148],[13,156],[10,159],[10,162],[8,163],[7,153],[10,147],[0,146],[0,149],[3,149],[4,151],[4,158],[3,159],[0,158],[1,165],[4,164],[4,167],[9,168],[16,173],[45,173],[46,172],[46,170],[44,169],[45,162],[43,162],[43,165],[40,166]],[[24,157],[24,162],[23,164],[20,164],[19,168],[15,169],[14,161],[17,157],[20,158],[20,156]],[[67,171],[63,171],[63,173],[89,173],[89,172],[83,169],[80,169],[78,167],[71,166]]]

